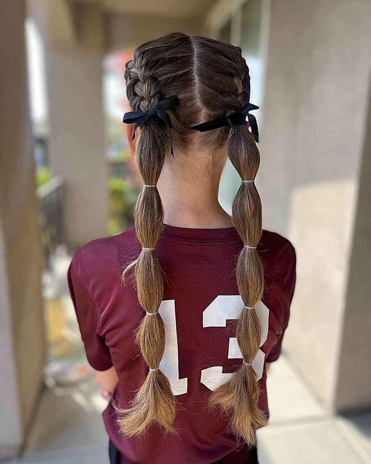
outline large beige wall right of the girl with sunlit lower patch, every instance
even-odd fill
[[[363,219],[370,183],[360,176],[370,17],[368,0],[271,2],[260,144],[263,221],[297,251],[284,347],[332,410],[371,406],[365,368],[371,290],[360,269],[371,258]],[[361,250],[364,259],[356,262]]]

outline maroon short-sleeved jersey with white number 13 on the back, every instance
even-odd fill
[[[164,436],[154,425],[145,438],[126,438],[118,431],[111,400],[103,418],[122,463],[206,464],[224,458],[225,464],[240,464],[249,457],[248,447],[230,432],[228,418],[205,408],[210,391],[242,363],[233,329],[243,306],[234,275],[242,246],[233,227],[164,226],[156,246],[165,275],[160,314],[166,349],[160,367],[175,395],[179,434]],[[68,272],[88,361],[97,370],[115,366],[119,382],[113,400],[120,407],[128,406],[148,373],[133,336],[145,311],[134,283],[124,286],[120,278],[140,251],[133,229],[94,240],[75,252]],[[268,414],[265,362],[275,361],[281,351],[294,293],[295,251],[286,238],[268,231],[262,232],[257,251],[265,292],[256,305],[263,336],[253,366],[260,378],[259,406]]]

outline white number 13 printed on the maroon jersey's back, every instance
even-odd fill
[[[237,319],[243,301],[239,295],[219,295],[203,312],[204,327],[225,327],[227,319]],[[260,346],[267,340],[269,309],[261,301],[256,303],[256,314],[262,326],[262,338]],[[179,379],[178,361],[178,335],[176,332],[175,300],[161,302],[160,315],[166,326],[165,352],[160,362],[160,369],[170,380],[174,395],[187,393],[188,379]],[[240,348],[235,337],[229,339],[228,358],[242,358]],[[255,369],[257,379],[262,378],[264,367],[264,353],[259,350],[252,366]],[[223,373],[223,366],[212,366],[201,370],[201,383],[210,390],[215,390],[219,385],[227,382],[233,374]]]

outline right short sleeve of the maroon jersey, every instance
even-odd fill
[[[283,336],[290,318],[290,305],[296,282],[296,254],[290,242],[287,242],[276,259],[275,274],[278,280],[275,288],[275,300],[277,307],[280,308],[282,332],[277,334],[275,345],[266,358],[267,362],[277,361],[280,357]]]

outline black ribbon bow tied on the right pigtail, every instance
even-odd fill
[[[211,119],[211,121],[202,122],[197,126],[191,127],[191,129],[198,130],[199,132],[206,132],[207,130],[220,129],[225,126],[246,126],[246,116],[249,120],[251,127],[251,134],[254,136],[256,142],[259,142],[259,130],[256,122],[256,117],[250,115],[249,111],[258,110],[258,106],[248,103],[241,110],[231,113],[229,116],[218,117],[217,119]]]

